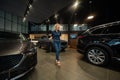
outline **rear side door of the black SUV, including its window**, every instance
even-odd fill
[[[106,34],[110,40],[107,42],[112,49],[115,51],[116,55],[120,57],[120,24],[112,25],[107,27],[104,34]]]

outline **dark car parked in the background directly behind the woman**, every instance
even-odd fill
[[[42,36],[38,39],[39,48],[44,47],[47,52],[55,51],[54,46],[52,44],[52,39],[50,40],[48,36]],[[61,51],[64,51],[68,46],[68,42],[65,40],[61,40]]]

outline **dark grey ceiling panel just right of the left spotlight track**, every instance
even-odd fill
[[[28,20],[40,23],[69,5],[73,0],[36,0],[28,15]],[[33,19],[34,18],[34,19]]]

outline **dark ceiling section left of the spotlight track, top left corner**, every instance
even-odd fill
[[[23,16],[28,0],[0,0],[0,10]]]

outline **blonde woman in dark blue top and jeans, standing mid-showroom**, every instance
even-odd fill
[[[61,50],[61,42],[60,42],[60,36],[61,36],[61,32],[60,32],[60,24],[55,24],[55,30],[52,31],[52,39],[53,39],[53,45],[55,48],[55,53],[56,53],[56,64],[60,65],[60,50]]]

